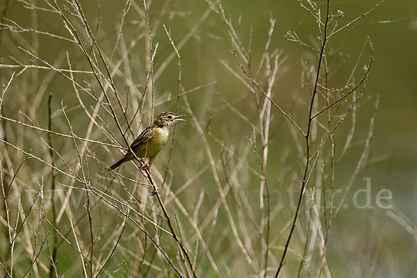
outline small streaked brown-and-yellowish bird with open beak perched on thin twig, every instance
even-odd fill
[[[150,126],[140,133],[138,138],[133,141],[131,145],[132,151],[138,158],[149,158],[149,165],[152,165],[152,161],[158,152],[161,151],[163,146],[168,140],[170,135],[170,125],[175,122],[185,121],[179,119],[183,115],[178,115],[172,112],[163,112],[155,118],[154,122]],[[126,161],[131,161],[135,158],[130,150],[122,156],[118,161],[110,166],[111,170],[122,165]]]

